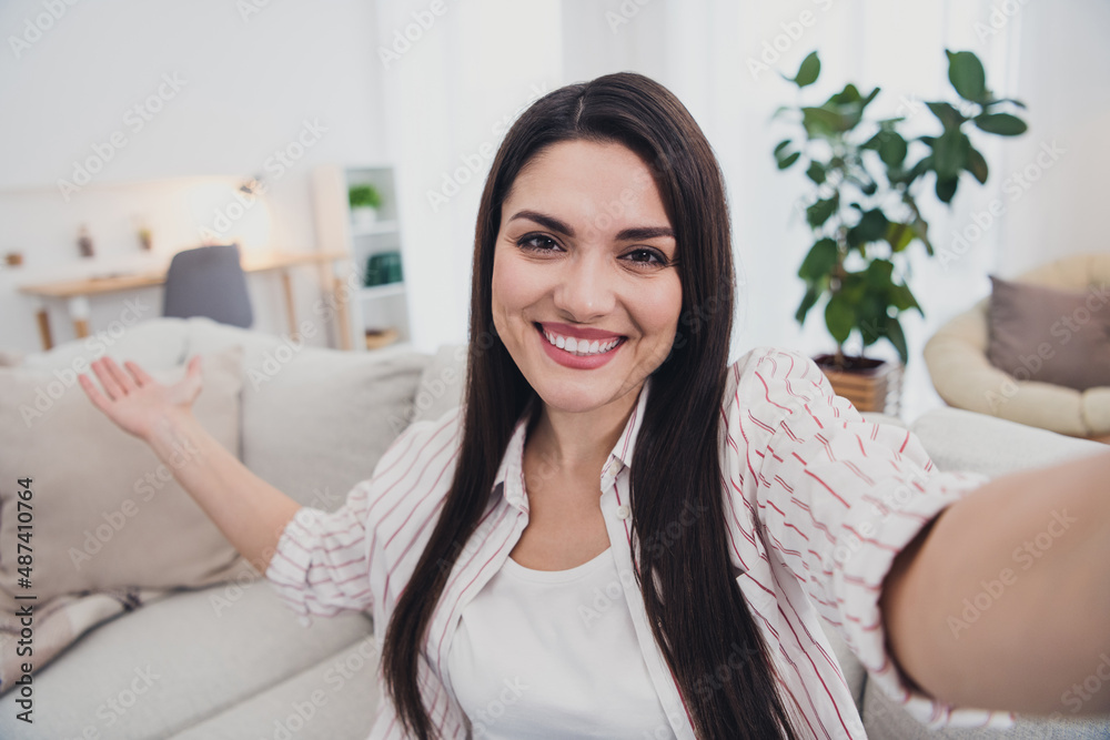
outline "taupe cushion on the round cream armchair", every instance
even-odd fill
[[[1076,391],[1110,386],[1104,290],[1061,291],[990,278],[990,364],[1019,381]]]

